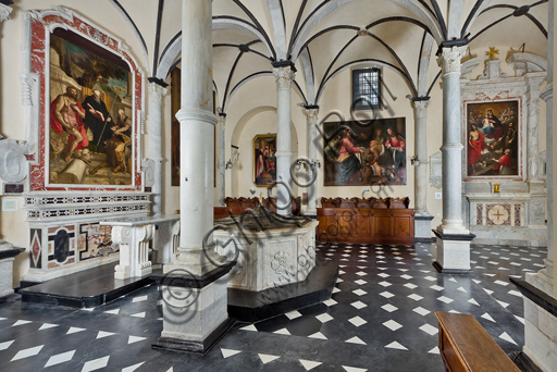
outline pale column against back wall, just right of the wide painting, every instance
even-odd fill
[[[428,211],[428,106],[429,98],[413,101],[414,117],[414,238],[431,240],[431,221],[433,216]]]

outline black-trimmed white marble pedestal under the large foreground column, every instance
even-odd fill
[[[163,330],[153,349],[206,354],[233,326],[228,319],[228,272],[236,262],[201,277],[158,277],[162,293]]]

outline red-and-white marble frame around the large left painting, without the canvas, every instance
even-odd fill
[[[132,72],[133,171],[132,185],[60,185],[49,184],[49,107],[50,107],[50,33],[64,28],[120,57]],[[145,107],[145,74],[128,52],[128,47],[73,11],[55,7],[25,13],[22,51],[22,100],[26,107],[26,141],[29,152],[27,191],[141,191],[141,139]]]

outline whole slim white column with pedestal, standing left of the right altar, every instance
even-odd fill
[[[462,134],[460,127],[460,60],[467,47],[443,48],[437,63],[443,72],[443,220],[434,231],[434,266],[441,272],[470,270],[473,235],[462,224]]]

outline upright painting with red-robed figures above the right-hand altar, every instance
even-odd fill
[[[518,100],[466,104],[468,177],[517,176],[522,151]]]

